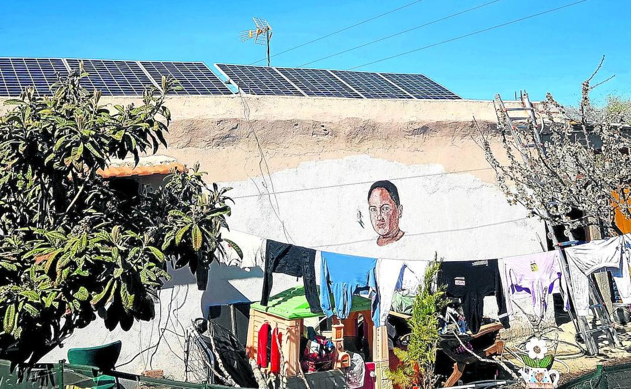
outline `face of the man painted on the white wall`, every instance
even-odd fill
[[[397,207],[386,189],[375,188],[368,199],[370,222],[377,234],[391,238],[399,233],[399,218],[403,206]]]

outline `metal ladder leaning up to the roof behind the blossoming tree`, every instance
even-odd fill
[[[521,107],[515,108],[507,108],[502,101],[502,98],[499,94],[495,95],[495,105],[496,108],[504,113],[505,124],[509,127],[510,134],[516,142],[517,149],[522,156],[524,162],[528,163],[528,153],[524,151],[524,148],[541,148],[541,152],[545,153],[545,147],[543,142],[541,142],[541,129],[543,129],[543,120],[539,124],[536,119],[536,115],[534,114],[533,104],[528,99],[528,93],[522,93],[520,96],[521,99]],[[512,116],[512,113],[522,113],[522,116]],[[524,114],[525,113],[525,114]],[[531,129],[533,131],[532,134],[532,142],[524,142],[519,136],[519,129]],[[547,213],[547,211],[543,210]],[[557,240],[557,236],[554,234],[554,230],[549,221],[546,221],[548,226],[548,230],[551,231],[551,240],[557,250],[560,253],[561,265],[563,267],[563,273],[565,275],[565,280],[567,284],[570,284],[570,274],[569,267],[567,264],[567,258],[563,254],[561,250],[561,245]],[[572,237],[572,233],[568,230],[570,236],[570,240],[574,240]],[[611,316],[607,311],[606,306],[604,305],[603,297],[598,290],[598,288],[594,285],[591,277],[589,279],[589,296],[591,298],[591,305],[589,308],[593,311],[594,318],[600,321],[600,324],[595,324],[594,327],[591,327],[587,322],[587,318],[585,316],[577,316],[569,311],[570,318],[572,318],[572,323],[574,323],[574,328],[581,334],[582,339],[586,345],[586,351],[589,355],[598,354],[598,344],[599,344],[599,335],[604,334],[606,339],[608,340],[610,345],[614,347],[621,347],[622,342],[620,342],[620,338],[618,337],[618,333],[616,332],[615,325],[611,322]],[[569,287],[569,294],[572,301],[574,301],[574,290]]]

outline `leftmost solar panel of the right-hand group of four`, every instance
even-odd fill
[[[252,95],[304,96],[273,67],[215,64],[237,88]]]

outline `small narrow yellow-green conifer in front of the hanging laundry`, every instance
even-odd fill
[[[417,387],[435,388],[438,376],[434,373],[436,351],[440,339],[439,315],[445,307],[446,298],[442,287],[432,289],[432,281],[440,269],[442,260],[435,257],[425,270],[423,284],[412,305],[410,340],[407,349],[394,349],[401,362],[396,370],[389,372],[389,378],[402,389]]]

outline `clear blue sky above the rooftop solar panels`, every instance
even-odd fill
[[[85,57],[249,64],[264,47],[240,43],[252,16],[274,29],[272,54],[353,25],[413,0],[345,1],[0,1],[0,56]],[[314,44],[273,57],[299,66],[422,25],[488,0],[423,0]],[[411,49],[572,3],[501,0],[310,67],[348,69]],[[504,98],[526,89],[576,103],[581,81],[606,55],[594,93],[631,97],[631,1],[589,0],[570,8],[420,50],[357,70],[423,73],[464,98]],[[264,62],[260,62],[263,64]]]

